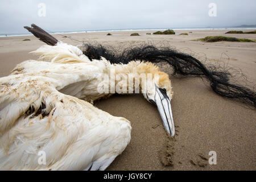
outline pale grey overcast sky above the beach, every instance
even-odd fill
[[[40,3],[46,5],[46,16]],[[210,17],[210,3],[217,16]],[[255,0],[1,0],[0,34],[35,23],[50,31],[230,27],[256,24]],[[42,15],[42,14],[41,14]]]

